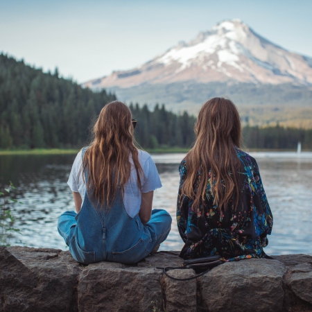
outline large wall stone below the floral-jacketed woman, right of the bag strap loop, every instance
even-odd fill
[[[281,311],[283,263],[268,259],[227,262],[199,278],[202,300],[213,311]]]

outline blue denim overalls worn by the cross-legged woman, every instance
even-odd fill
[[[82,155],[85,154],[83,149]],[[76,261],[137,263],[162,243],[171,229],[171,216],[153,209],[150,221],[143,225],[139,215],[130,217],[117,191],[112,207],[96,206],[87,191],[78,214],[65,211],[58,220],[58,232]]]

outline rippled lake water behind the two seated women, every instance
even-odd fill
[[[259,164],[274,217],[268,254],[312,254],[312,153],[251,153]],[[76,155],[0,156],[0,187],[14,182],[24,205],[12,206],[14,227],[21,229],[11,245],[60,248],[66,245],[56,229],[58,216],[73,210],[67,178]],[[154,208],[173,217],[171,233],[161,250],[180,250],[175,207],[184,154],[152,155],[163,187],[155,191]]]

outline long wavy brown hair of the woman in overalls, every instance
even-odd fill
[[[94,140],[83,157],[87,168],[87,190],[94,199],[112,205],[119,187],[122,194],[131,173],[130,155],[137,171],[137,184],[141,189],[138,150],[135,147],[132,114],[128,106],[114,101],[103,107],[93,128]]]

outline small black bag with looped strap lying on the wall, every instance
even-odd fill
[[[159,269],[164,270],[164,275],[170,277],[171,279],[175,279],[177,281],[189,281],[190,279],[196,279],[197,277],[206,274],[211,268],[214,268],[215,266],[218,266],[224,263],[225,261],[226,260],[224,258],[221,258],[221,256],[216,255],[211,257],[184,260],[184,262],[182,263],[182,267],[167,266],[166,268]],[[167,273],[168,270],[183,270],[183,269],[193,269],[195,270],[197,275],[193,277],[187,277],[185,279],[177,279],[175,277],[168,275]]]

